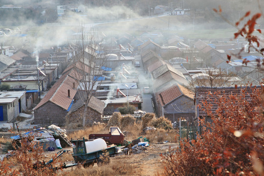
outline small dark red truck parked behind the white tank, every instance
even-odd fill
[[[110,127],[109,134],[89,134],[89,139],[102,138],[110,144],[123,144],[125,135],[118,127]]]

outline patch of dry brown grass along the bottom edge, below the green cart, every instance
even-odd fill
[[[128,162],[116,161],[110,164],[98,166],[90,166],[88,168],[76,168],[72,171],[64,173],[65,176],[135,176],[139,175]]]

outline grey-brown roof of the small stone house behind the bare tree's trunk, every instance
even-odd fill
[[[76,103],[74,103],[69,111],[69,114],[71,112],[74,112],[76,110],[78,110],[79,108],[81,108],[82,106],[84,106],[84,101],[82,99],[78,100]],[[88,103],[88,107],[96,110],[97,112],[103,114],[104,111],[104,107],[105,107],[105,103],[102,102],[101,100],[95,98],[94,96],[91,97],[89,103]]]

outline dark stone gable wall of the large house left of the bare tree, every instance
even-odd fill
[[[48,101],[43,106],[34,110],[34,123],[40,125],[64,125],[67,112],[58,105]]]

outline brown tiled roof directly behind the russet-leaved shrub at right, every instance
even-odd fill
[[[235,95],[238,94],[240,95],[243,90],[245,90],[245,99],[249,100],[251,99],[250,95],[253,92],[253,89],[261,89],[262,86],[252,86],[252,87],[237,87],[235,88],[234,86],[232,87],[196,87],[195,91],[195,102],[198,99],[198,105],[201,105],[201,108],[199,108],[199,116],[206,116],[206,112],[203,111],[204,109],[203,106],[203,101],[207,100],[209,104],[212,104],[212,113],[213,115],[216,114],[216,110],[218,109],[218,96],[222,95]]]

